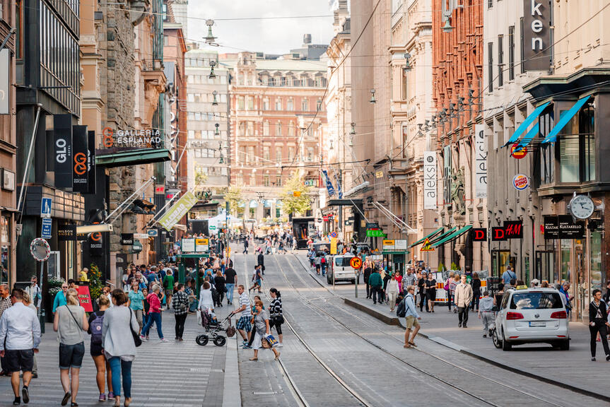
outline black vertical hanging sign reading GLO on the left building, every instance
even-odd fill
[[[55,187],[72,189],[72,115],[53,116]]]

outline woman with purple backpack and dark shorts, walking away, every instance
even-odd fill
[[[98,370],[95,381],[98,382],[98,390],[100,391],[99,401],[106,401],[104,379],[106,379],[108,383],[108,400],[115,398],[115,394],[112,393],[112,371],[110,370],[110,364],[104,357],[104,338],[102,336],[104,314],[106,309],[110,306],[108,297],[100,295],[100,298],[98,298],[98,306],[100,307],[99,311],[95,311],[89,316],[89,329],[87,330],[87,334],[90,334],[91,336],[89,353],[95,363],[95,369]]]

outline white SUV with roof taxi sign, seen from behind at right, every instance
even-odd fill
[[[510,350],[521,343],[550,343],[570,349],[568,313],[561,294],[553,288],[508,290],[495,315],[493,344]]]

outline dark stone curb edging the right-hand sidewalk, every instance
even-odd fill
[[[346,303],[346,305],[349,305],[351,307],[354,307],[356,309],[360,309],[360,311],[365,312],[366,314],[369,314],[377,319],[379,319],[381,322],[384,322],[385,324],[388,325],[397,325],[397,326],[401,326],[403,329],[405,328],[404,324],[401,322],[400,318],[390,318],[387,317],[384,314],[381,314],[380,312],[375,311],[375,309],[370,309],[369,307],[366,307],[365,305],[359,304],[358,302],[353,302],[352,300],[349,300],[346,297],[341,297],[344,302]],[[460,353],[464,353],[465,355],[469,355],[472,358],[481,360],[483,362],[487,362],[490,365],[494,365],[495,367],[500,367],[501,369],[504,370],[508,370],[509,372],[513,372],[513,373],[517,373],[520,374],[522,376],[525,377],[529,377],[530,379],[536,379],[536,380],[540,380],[541,382],[545,382],[548,384],[553,384],[557,387],[562,387],[563,389],[568,389],[571,391],[574,391],[575,393],[578,394],[582,394],[583,396],[590,396],[590,397],[594,397],[596,399],[601,399],[603,401],[606,402],[610,402],[610,396],[605,396],[604,394],[599,394],[599,393],[595,393],[594,391],[590,391],[587,389],[582,389],[582,387],[577,387],[574,384],[569,384],[567,382],[558,382],[557,380],[554,379],[549,379],[548,377],[544,377],[541,376],[539,374],[535,374],[532,372],[527,372],[527,370],[522,370],[519,369],[517,367],[513,367],[510,365],[505,365],[503,362],[498,362],[498,360],[493,360],[490,358],[486,358],[485,356],[481,356],[481,355],[477,355],[476,353],[471,352],[470,350],[466,350],[464,348],[454,348],[452,346],[450,346],[447,343],[443,343],[442,341],[437,341],[435,338],[441,338],[440,336],[430,336],[427,334],[422,334],[421,331],[419,332],[418,335],[423,336],[426,339],[429,339],[430,341],[433,341],[435,343],[438,343],[439,345],[445,346],[445,348],[450,348],[452,350],[457,350]]]

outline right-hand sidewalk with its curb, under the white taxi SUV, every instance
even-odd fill
[[[299,253],[298,258],[309,270],[305,256]],[[312,276],[324,287],[333,291],[332,285],[327,285],[325,280],[315,275],[315,272]],[[389,305],[373,305],[372,300],[365,298],[363,284],[358,286],[358,298],[354,296],[353,284],[336,285],[334,293],[342,297],[346,305],[366,312],[386,324],[400,324],[404,327],[404,319],[399,319],[395,313],[389,312]],[[495,348],[491,338],[483,338],[483,325],[475,312],[470,312],[468,326],[467,329],[458,328],[457,314],[453,311],[448,312],[447,306],[437,305],[434,313],[428,313],[425,308],[423,309],[419,334],[443,346],[512,372],[557,384],[581,394],[598,398],[601,396],[606,401],[610,401],[610,388],[607,386],[606,375],[598,374],[600,368],[604,369],[610,366],[610,363],[604,360],[601,343],[597,343],[598,361],[591,362],[590,336],[586,325],[570,322],[571,341],[568,351],[553,350],[550,345],[542,343],[515,346],[508,352]],[[592,367],[595,369],[592,370]]]

